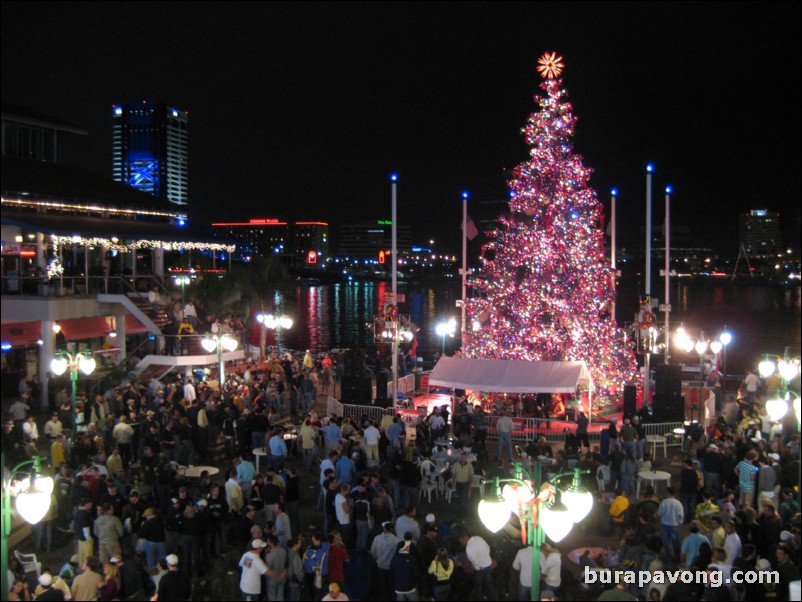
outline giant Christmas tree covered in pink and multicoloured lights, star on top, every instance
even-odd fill
[[[546,96],[535,97],[540,111],[523,130],[530,159],[513,171],[510,214],[488,233],[482,276],[471,282],[464,355],[584,360],[596,387],[620,393],[638,380],[635,357],[610,316],[602,207],[588,186],[591,170],[572,153],[576,118],[561,61],[554,53],[539,60]]]

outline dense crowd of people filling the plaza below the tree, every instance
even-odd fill
[[[492,427],[499,440],[492,459],[489,417],[466,398],[417,424],[392,409],[380,421],[319,416],[315,401],[330,369],[307,353],[274,356],[221,388],[186,376],[126,383],[87,402],[74,435],[69,404],[37,423],[23,399],[15,402],[3,437],[9,463],[46,455],[55,474],[33,546],[50,550],[66,533],[74,554],[43,567],[36,583],[12,563],[10,599],[188,600],[221,562],[238,571],[237,597],[246,600],[495,599],[511,577],[518,587],[507,593],[529,599],[531,548],[512,544],[507,553],[466,520],[475,514],[474,477],[510,476],[508,461],[519,459],[503,437],[510,416]],[[799,578],[799,440],[761,432],[760,413],[759,400],[728,402],[706,431],[689,437],[678,486],[662,498],[649,486],[636,494],[639,473],[650,467],[637,417],[625,417],[620,429],[613,421],[604,449],[590,448],[585,419],[562,449],[536,435],[525,455],[554,458],[555,469],[591,468],[610,490],[599,498],[601,507],[609,502],[610,545],[582,555],[580,567],[770,567],[780,584],[745,585],[742,593],[783,600]],[[189,467],[204,465],[189,476]],[[309,487],[316,495],[305,493]],[[429,503],[434,512],[419,516],[430,488],[448,505]],[[599,595],[569,583],[556,546],[543,545],[540,557],[541,599]],[[616,588],[599,599],[734,593],[679,584]]]

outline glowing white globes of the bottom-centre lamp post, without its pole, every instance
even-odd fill
[[[549,498],[552,501],[547,505]],[[543,531],[549,539],[559,542],[568,535],[575,523],[581,522],[590,513],[593,495],[582,487],[576,472],[567,491],[557,492],[547,482],[537,498],[526,482],[508,483],[500,493],[496,487],[494,492],[479,502],[479,518],[489,531],[496,533],[507,524],[511,514],[520,517],[527,506],[535,504],[540,504],[537,520]]]

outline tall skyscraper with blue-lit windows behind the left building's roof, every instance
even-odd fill
[[[113,108],[113,177],[176,205],[189,203],[186,111],[162,103]]]

